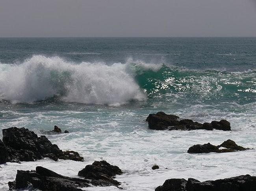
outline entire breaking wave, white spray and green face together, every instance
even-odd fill
[[[170,94],[187,100],[255,102],[256,71],[193,71],[132,59],[75,64],[42,55],[21,64],[0,64],[0,99],[12,103],[57,96],[65,102],[119,105]]]

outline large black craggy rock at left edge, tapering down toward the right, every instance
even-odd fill
[[[53,160],[60,158],[83,161],[83,157],[79,156],[77,152],[63,152],[56,144],[52,144],[46,136],[38,137],[33,131],[24,127],[3,129],[0,152],[6,153],[0,157],[6,157],[5,162],[35,161],[43,157]]]

